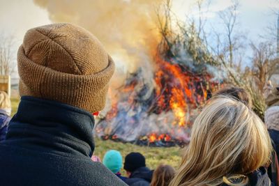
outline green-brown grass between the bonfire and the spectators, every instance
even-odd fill
[[[12,116],[16,113],[19,98],[11,98],[12,102]],[[162,147],[148,147],[148,146],[137,146],[134,144],[123,144],[114,141],[103,141],[95,138],[95,150],[94,155],[97,155],[103,160],[105,152],[107,150],[119,150],[122,157],[124,158],[130,152],[139,152],[146,157],[146,166],[150,169],[156,169],[159,164],[169,164],[177,168],[181,160],[183,149],[176,147],[162,148]],[[124,173],[123,169],[121,172]],[[125,175],[125,174],[124,174]]]

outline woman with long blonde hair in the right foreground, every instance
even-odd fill
[[[211,100],[197,116],[191,141],[170,185],[270,185],[266,166],[271,140],[264,123],[245,104]]]

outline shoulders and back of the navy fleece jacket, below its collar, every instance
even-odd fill
[[[6,170],[0,174],[1,185],[126,185],[89,157],[63,157],[3,144],[0,144],[0,169]]]

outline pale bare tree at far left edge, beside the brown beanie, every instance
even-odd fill
[[[13,37],[0,34],[0,75],[10,75],[16,66],[14,44]]]

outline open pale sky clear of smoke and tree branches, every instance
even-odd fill
[[[91,0],[94,1],[94,0]],[[104,0],[112,1],[112,0]],[[133,1],[133,0],[130,0]],[[181,20],[185,15],[197,15],[195,0],[173,0],[172,10]],[[266,27],[276,23],[277,16],[273,9],[279,8],[276,0],[241,0],[239,9],[239,29],[246,33],[250,40],[258,40],[259,35],[266,31]],[[206,22],[218,22],[218,11],[225,10],[232,5],[229,0],[211,0],[209,10],[204,13]],[[204,9],[205,10],[205,9]],[[24,33],[35,26],[50,24],[46,9],[36,6],[32,0],[0,0],[0,33],[13,36],[15,54],[21,45]],[[216,24],[218,28],[218,24]],[[221,29],[221,28],[220,28]],[[0,38],[1,40],[1,38]]]

